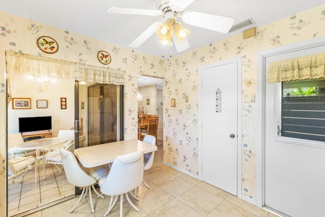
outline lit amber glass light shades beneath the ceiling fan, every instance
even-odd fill
[[[176,22],[173,18],[169,18],[156,28],[159,42],[163,45],[171,45],[173,30],[178,42],[183,41],[189,35],[189,30],[181,23]]]

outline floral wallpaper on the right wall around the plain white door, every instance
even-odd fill
[[[175,98],[176,107],[165,107],[164,161],[199,175],[199,68],[242,57],[242,93],[257,96],[257,53],[283,45],[325,36],[325,5],[259,26],[256,36],[242,34],[215,42],[167,60],[164,104]],[[189,96],[185,103],[184,97]],[[258,108],[242,104],[242,192],[256,199],[256,143]],[[240,193],[239,193],[240,194]]]

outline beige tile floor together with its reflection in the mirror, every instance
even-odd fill
[[[162,132],[158,135],[158,139],[163,139]],[[25,208],[36,207],[40,203],[48,203],[74,194],[74,187],[67,181],[64,170],[62,170],[62,175],[59,175],[57,169],[54,166],[52,169],[50,166],[47,166],[46,169],[46,180],[42,180],[43,170],[40,169],[42,179],[38,184],[33,183],[34,172],[32,171],[26,174],[25,183],[18,184],[15,182],[11,184],[9,188],[9,216],[17,214]],[[155,152],[151,169],[144,172],[144,179],[151,188],[147,189],[142,183],[139,187],[139,201],[133,200],[140,211],[137,212],[125,200],[123,216],[277,216],[204,181],[164,165],[162,146],[159,146]],[[106,196],[105,199],[99,199],[95,198],[94,194],[92,196],[94,213],[91,213],[89,197],[82,199],[75,211],[70,213],[70,209],[79,198],[77,196],[25,216],[103,216],[107,211],[110,197]],[[119,216],[119,203],[115,205],[109,216]]]

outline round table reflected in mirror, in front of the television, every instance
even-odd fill
[[[51,147],[57,146],[57,145],[62,145],[66,142],[68,142],[67,138],[51,137],[51,138],[36,139],[36,140],[23,142],[23,143],[16,145],[15,147],[19,150],[35,149],[36,156],[38,157],[38,156],[40,156],[40,149],[49,148],[49,151],[50,151]]]

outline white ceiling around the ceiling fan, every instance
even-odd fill
[[[149,25],[163,18],[160,16],[108,14],[107,9],[112,6],[156,9],[156,1],[160,3],[160,0],[2,0],[0,10],[56,26],[69,32],[128,47]],[[234,17],[234,24],[252,18],[255,24],[232,33],[221,34],[183,23],[190,30],[188,36],[190,48],[182,53],[241,34],[247,28],[258,27],[322,4],[324,4],[324,0],[195,0],[185,10]],[[181,18],[178,19],[177,21],[181,21]],[[174,46],[164,47],[161,45],[155,34],[134,50],[157,57],[165,54],[165,58],[168,58],[170,53],[173,57],[181,54],[176,51]]]

